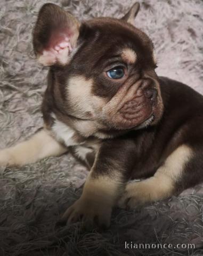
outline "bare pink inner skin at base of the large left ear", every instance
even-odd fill
[[[56,62],[66,65],[71,51],[72,46],[67,34],[53,34],[51,36],[50,43],[45,50],[43,50],[42,55],[40,55],[39,62],[45,66],[51,66]]]

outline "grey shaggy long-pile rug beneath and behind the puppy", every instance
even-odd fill
[[[0,148],[28,138],[42,126],[40,104],[47,68],[34,57],[31,31],[44,0],[1,0]],[[58,0],[80,20],[121,17],[131,0]],[[141,0],[136,26],[153,40],[158,75],[203,93],[203,2]],[[180,95],[181,97],[181,95]],[[177,110],[178,111],[178,110]],[[107,231],[80,223],[58,226],[60,214],[81,194],[87,170],[67,154],[21,168],[0,169],[0,256],[203,255],[203,185],[131,211],[115,210]],[[195,170],[194,170],[195,171]],[[174,245],[125,249],[125,241]],[[194,243],[195,250],[177,250]]]

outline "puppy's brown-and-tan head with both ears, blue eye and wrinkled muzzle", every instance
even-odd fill
[[[153,44],[133,26],[139,4],[122,18],[80,23],[45,4],[34,29],[34,51],[50,66],[55,104],[97,129],[126,131],[156,124],[163,103]]]

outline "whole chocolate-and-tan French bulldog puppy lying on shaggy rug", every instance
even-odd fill
[[[80,23],[47,3],[38,14],[34,51],[50,67],[44,128],[2,150],[0,165],[70,149],[90,173],[63,214],[68,222],[109,226],[116,205],[131,209],[203,181],[203,97],[157,76],[153,44],[133,25],[138,11],[135,3],[121,19]]]

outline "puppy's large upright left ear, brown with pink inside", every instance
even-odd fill
[[[55,4],[47,3],[39,11],[33,31],[34,52],[44,66],[66,65],[76,47],[79,22]]]

